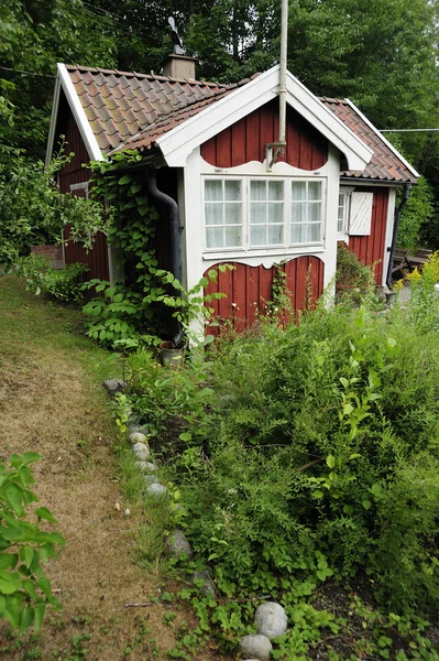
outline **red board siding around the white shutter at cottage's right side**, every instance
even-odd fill
[[[373,193],[371,234],[364,237],[349,237],[349,248],[353,250],[358,259],[374,269],[375,282],[383,281],[383,260],[385,250],[388,188],[356,188],[355,192]]]

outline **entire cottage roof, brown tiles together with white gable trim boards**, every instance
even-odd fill
[[[278,66],[239,84],[222,85],[58,64],[56,89],[63,88],[91,159],[102,160],[125,149],[158,147],[168,164],[176,165],[193,149],[188,145],[182,152],[182,142],[190,133],[199,143],[208,139],[208,133],[199,130],[201,116],[206,118],[204,126],[209,124],[218,133],[222,130],[219,122],[230,126],[238,121],[237,112],[244,116],[277,95],[277,72]],[[416,171],[350,101],[323,98],[320,102],[289,73],[287,84],[289,102],[293,100],[296,109],[348,156],[351,166],[354,164],[355,170],[343,170],[342,176],[416,181]],[[48,158],[55,138],[56,89]],[[228,97],[233,97],[233,102],[227,101]],[[249,97],[253,106],[249,106]]]

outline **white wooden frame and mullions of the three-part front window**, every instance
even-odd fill
[[[327,218],[327,204],[328,204],[328,178],[325,176],[270,176],[259,174],[244,174],[240,176],[224,175],[224,174],[206,174],[201,177],[201,205],[202,205],[202,250],[206,254],[222,254],[222,253],[261,253],[261,252],[278,252],[279,250],[297,251],[303,248],[315,248],[316,250],[325,249],[326,240],[326,218]],[[207,234],[206,228],[212,227],[206,225],[206,181],[241,181],[241,194],[242,194],[242,246],[231,248],[208,248],[207,247]],[[278,181],[284,183],[284,220],[283,220],[283,242],[282,243],[267,243],[264,246],[252,246],[250,240],[250,182],[251,181]],[[292,208],[292,183],[293,182],[321,182],[321,201],[320,202],[320,240],[319,241],[307,241],[301,243],[290,242],[290,208]],[[268,201],[267,201],[268,202]],[[304,201],[308,202],[308,201]]]

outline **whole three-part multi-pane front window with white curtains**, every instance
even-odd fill
[[[206,250],[322,242],[323,180],[205,178]]]

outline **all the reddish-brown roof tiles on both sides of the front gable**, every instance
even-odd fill
[[[250,82],[222,85],[77,65],[66,68],[99,149],[106,154],[151,149],[161,136]],[[364,172],[342,170],[341,176],[416,182],[414,173],[349,101],[327,97],[320,100],[374,152]]]

